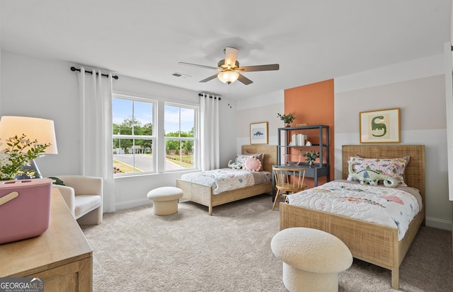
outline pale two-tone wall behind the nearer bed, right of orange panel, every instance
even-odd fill
[[[449,230],[444,56],[335,78],[335,177],[341,145],[360,144],[359,112],[400,107],[401,144],[425,145],[426,224]]]

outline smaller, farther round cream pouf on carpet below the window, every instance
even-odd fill
[[[149,191],[147,197],[153,200],[154,215],[171,215],[178,212],[178,199],[183,194],[178,187],[158,187]]]

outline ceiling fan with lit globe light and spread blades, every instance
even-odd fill
[[[242,72],[253,72],[253,71],[271,71],[271,70],[278,70],[280,68],[279,64],[268,64],[268,65],[256,65],[256,66],[239,66],[239,62],[237,61],[239,49],[234,47],[226,47],[224,49],[225,59],[220,60],[217,64],[217,67],[212,66],[205,66],[205,65],[198,65],[198,64],[191,64],[185,62],[179,62],[179,64],[189,65],[189,66],[197,66],[206,69],[214,69],[220,71],[220,73],[214,74],[208,78],[203,79],[200,82],[207,82],[214,78],[219,78],[220,81],[226,84],[233,83],[236,80],[239,80],[241,83],[248,85],[253,83],[250,79],[243,76]],[[240,73],[241,72],[241,73]]]

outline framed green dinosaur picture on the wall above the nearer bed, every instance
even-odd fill
[[[400,143],[399,108],[360,112],[360,143]]]

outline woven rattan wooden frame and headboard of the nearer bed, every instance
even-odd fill
[[[398,241],[397,228],[285,203],[280,203],[280,230],[291,227],[307,227],[324,230],[335,235],[349,247],[353,257],[390,269],[391,287],[398,290],[401,262],[403,262],[418,228],[425,224],[425,146],[343,146],[343,180],[348,177],[348,158],[356,155],[364,158],[411,156],[404,174],[405,181],[409,187],[415,187],[420,190],[423,208],[415,216],[401,241]]]

